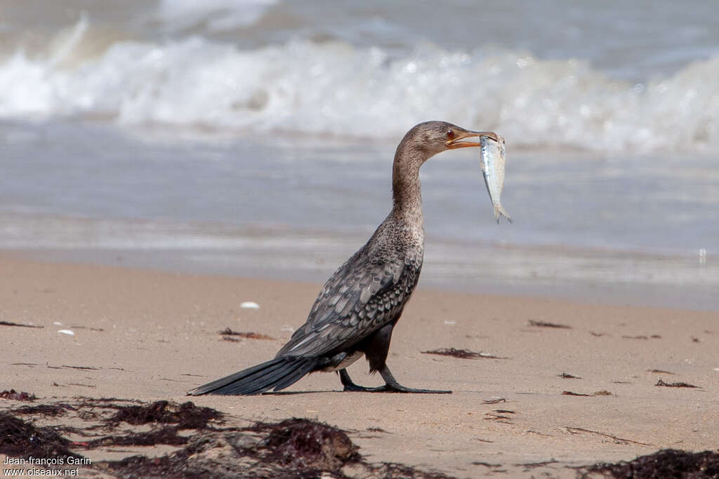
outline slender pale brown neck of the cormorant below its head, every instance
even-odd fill
[[[422,215],[422,187],[419,182],[419,167],[424,162],[421,152],[403,148],[397,149],[392,171],[392,214],[404,223],[424,231]]]

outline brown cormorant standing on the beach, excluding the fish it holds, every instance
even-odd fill
[[[339,371],[344,391],[449,393],[401,386],[386,360],[390,338],[419,279],[424,252],[424,218],[419,167],[447,149],[479,147],[468,131],[444,121],[414,126],[400,141],[392,171],[393,208],[369,241],[324,284],[305,324],[274,359],[247,368],[188,394],[261,394],[280,391],[314,371]],[[380,372],[384,386],[358,386],[347,366],[365,355],[370,372]]]

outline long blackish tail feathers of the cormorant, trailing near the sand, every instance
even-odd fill
[[[275,358],[188,391],[201,394],[262,394],[270,389],[280,391],[299,381],[317,366],[315,358]]]

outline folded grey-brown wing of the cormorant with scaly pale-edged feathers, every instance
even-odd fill
[[[326,282],[307,322],[278,357],[319,356],[349,348],[395,320],[417,284],[421,266],[421,253],[372,261],[360,249]]]

